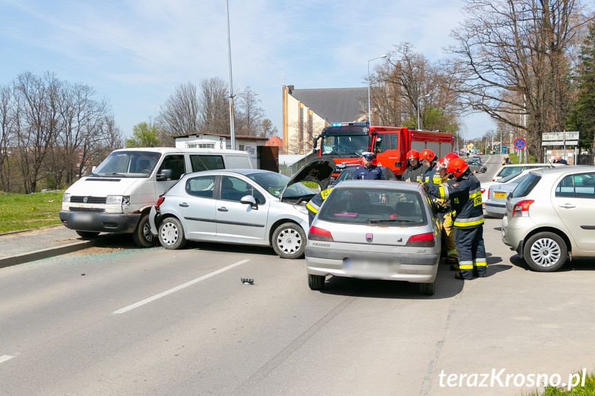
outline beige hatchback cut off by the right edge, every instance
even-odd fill
[[[507,197],[502,240],[535,271],[595,256],[595,167],[536,169]]]

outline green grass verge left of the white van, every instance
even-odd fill
[[[0,192],[0,233],[61,224],[61,191],[34,194]]]

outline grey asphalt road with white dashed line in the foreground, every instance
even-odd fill
[[[303,260],[222,244],[123,242],[0,269],[0,395],[521,395],[531,375],[567,383],[595,368],[595,260],[529,271],[500,223],[485,222],[487,278],[455,280],[441,264],[432,297],[348,278],[310,291]]]

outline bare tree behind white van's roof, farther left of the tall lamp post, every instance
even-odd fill
[[[201,123],[200,114],[196,85],[188,82],[177,86],[175,92],[161,106],[155,123],[163,143],[173,146],[175,136],[196,134]]]

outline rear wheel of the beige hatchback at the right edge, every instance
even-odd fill
[[[560,236],[551,232],[540,232],[527,240],[523,249],[525,262],[534,271],[554,272],[566,262],[568,250]]]

